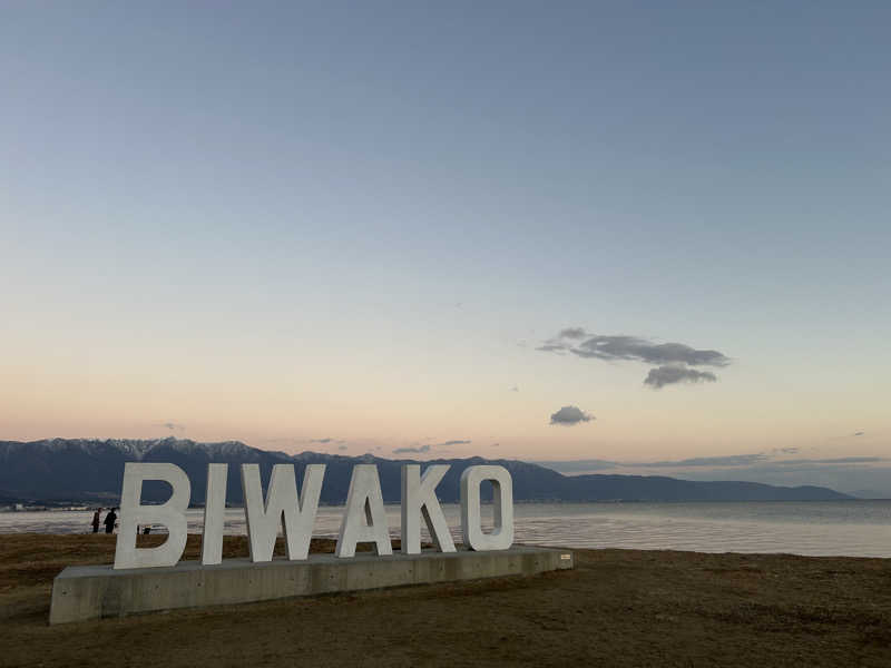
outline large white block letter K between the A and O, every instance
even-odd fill
[[[433,464],[421,478],[420,464],[402,466],[402,553],[421,553],[421,515],[430,538],[440,552],[454,552],[449,524],[437,499],[437,485],[449,471],[449,464]]]

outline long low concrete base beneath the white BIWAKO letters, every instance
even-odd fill
[[[405,584],[531,576],[572,564],[569,550],[513,547],[496,552],[430,551],[390,557],[369,553],[350,559],[311,554],[306,561],[281,559],[265,563],[226,559],[218,566],[180,561],[170,568],[130,570],[71,566],[52,582],[49,622]]]

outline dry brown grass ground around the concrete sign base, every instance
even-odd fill
[[[891,666],[891,560],[577,550],[533,578],[47,626],[52,578],[112,553],[0,536],[0,666]]]

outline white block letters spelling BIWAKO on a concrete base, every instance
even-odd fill
[[[421,475],[420,464],[402,466],[402,553],[421,553],[421,520],[440,552],[454,552],[446,514],[437,498],[437,485],[448,473],[449,464],[430,464]],[[207,492],[204,505],[202,566],[223,561],[223,533],[226,519],[226,478],[228,464],[207,464]],[[322,493],[325,464],[307,464],[297,494],[294,464],[275,464],[266,497],[260,478],[260,464],[242,464],[244,515],[247,523],[251,560],[272,561],[280,528],[284,529],[287,558],[302,561],[310,556],[315,514]],[[143,505],[143,482],[161,480],[173,494],[161,505]],[[495,529],[482,530],[480,484],[492,483]],[[461,474],[461,531],[468,550],[507,550],[513,543],[513,485],[505,466],[469,466]],[[185,472],[174,464],[129,462],[124,466],[120,501],[120,531],[115,552],[115,568],[176,566],[186,548],[186,510],[190,485]],[[167,541],[157,548],[136,548],[138,524],[164,524]],[[346,509],[341,521],[335,553],[355,556],[358,543],[374,543],[379,556],[393,553],[381,480],[375,464],[356,464],[350,479]]]

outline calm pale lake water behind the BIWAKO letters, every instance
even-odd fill
[[[456,539],[458,505],[443,510]],[[314,536],[336,537],[342,508],[320,508]],[[388,505],[399,536],[399,507]],[[488,517],[487,517],[488,515]],[[787,552],[891,557],[891,501],[725,503],[518,503],[516,542],[570,548],[634,548],[699,552]],[[91,512],[4,512],[0,533],[86,533]],[[490,523],[491,507],[483,507]],[[189,510],[200,532],[202,510]],[[226,533],[245,533],[244,511],[226,511]]]

